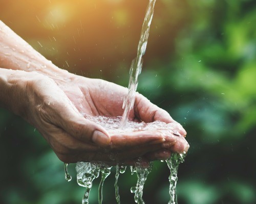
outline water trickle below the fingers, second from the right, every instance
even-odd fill
[[[144,204],[144,200],[142,198],[143,187],[147,179],[147,175],[151,172],[153,167],[153,163],[150,163],[150,167],[142,168],[140,166],[136,166],[133,168],[133,171],[136,172],[138,180],[136,186],[131,188],[131,192],[134,193],[134,200],[136,203]]]

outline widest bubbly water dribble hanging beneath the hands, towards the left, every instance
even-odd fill
[[[82,198],[82,204],[89,204],[89,194],[93,180],[99,176],[100,166],[89,162],[78,162],[76,164],[77,184],[86,188]]]

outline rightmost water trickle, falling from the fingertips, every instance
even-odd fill
[[[166,163],[170,169],[169,175],[169,194],[170,194],[170,201],[168,204],[178,204],[177,200],[177,193],[176,193],[176,184],[178,180],[178,168],[179,164],[184,162],[184,158],[186,156],[186,152],[184,151],[183,154],[173,153],[170,159],[166,160]]]

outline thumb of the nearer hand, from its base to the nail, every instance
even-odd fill
[[[81,141],[92,142],[99,146],[109,145],[110,136],[103,127],[85,119],[56,83],[50,80],[45,86],[45,82],[42,81],[37,86],[40,87],[37,94],[40,98],[44,98],[43,103],[38,106],[38,115],[42,120],[61,127]]]

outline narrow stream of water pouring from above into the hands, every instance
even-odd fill
[[[150,34],[150,25],[152,22],[153,14],[154,14],[154,7],[155,7],[156,0],[150,0],[150,3],[147,6],[145,19],[142,25],[142,30],[140,34],[140,41],[137,50],[137,57],[132,61],[132,65],[130,68],[130,80],[129,80],[129,91],[128,95],[123,100],[123,117],[122,122],[120,124],[120,128],[123,129],[126,126],[129,113],[133,109],[134,101],[135,101],[135,93],[138,86],[138,76],[141,72],[142,68],[142,56],[146,52],[146,45],[148,35]]]

